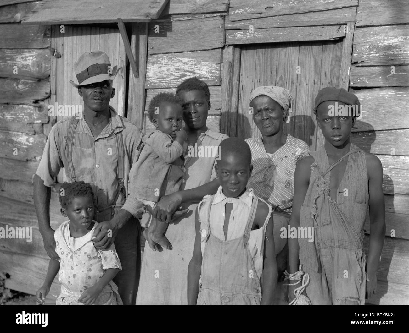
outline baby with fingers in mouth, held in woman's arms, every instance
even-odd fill
[[[156,127],[144,137],[143,149],[130,170],[129,195],[144,203],[150,212],[160,197],[179,190],[184,182],[184,159],[187,134],[182,128],[182,101],[170,93],[159,93],[149,103],[148,116]],[[135,184],[135,185],[133,185]],[[166,250],[172,245],[165,237],[168,224],[151,219],[148,228],[149,246],[159,250],[159,244]]]

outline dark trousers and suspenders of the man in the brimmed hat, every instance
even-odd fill
[[[72,162],[72,152],[74,148],[74,134],[78,125],[78,119],[74,119],[70,123],[67,136],[67,145],[65,151],[67,154],[68,165],[66,165],[67,177],[72,182],[77,181],[75,169]],[[125,179],[125,147],[122,136],[122,131],[115,134],[115,142],[117,146],[118,165],[117,165],[117,180],[119,183],[119,190],[115,199],[112,201],[112,206],[95,207],[94,220],[98,223],[111,220],[115,214],[118,214],[122,205],[118,202],[124,201],[126,198],[126,191],[124,188]],[[122,194],[122,198],[121,198]],[[115,238],[115,248],[117,250],[119,260],[121,261],[122,270],[114,277],[113,281],[118,286],[119,295],[125,305],[135,304],[137,288],[139,284],[140,275],[140,224],[136,217],[132,217],[130,221],[124,224],[119,229],[117,237]]]

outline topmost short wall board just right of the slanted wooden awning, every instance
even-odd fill
[[[184,13],[214,13],[227,11],[228,8],[228,0],[170,0],[163,9],[161,16]]]

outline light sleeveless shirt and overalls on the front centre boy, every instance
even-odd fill
[[[266,203],[249,190],[238,198],[226,197],[220,186],[199,203],[202,274],[197,304],[260,304],[265,230],[271,215],[267,205],[263,226],[251,230],[260,202]],[[226,203],[233,207],[225,239]]]

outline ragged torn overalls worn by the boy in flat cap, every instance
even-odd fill
[[[310,185],[301,206],[300,227],[314,227],[315,241],[299,239],[300,264],[310,275],[306,293],[314,304],[364,304],[363,227],[368,208],[365,153],[351,144],[348,154],[329,165],[326,150],[312,152]],[[330,171],[348,157],[337,201],[330,195]]]

